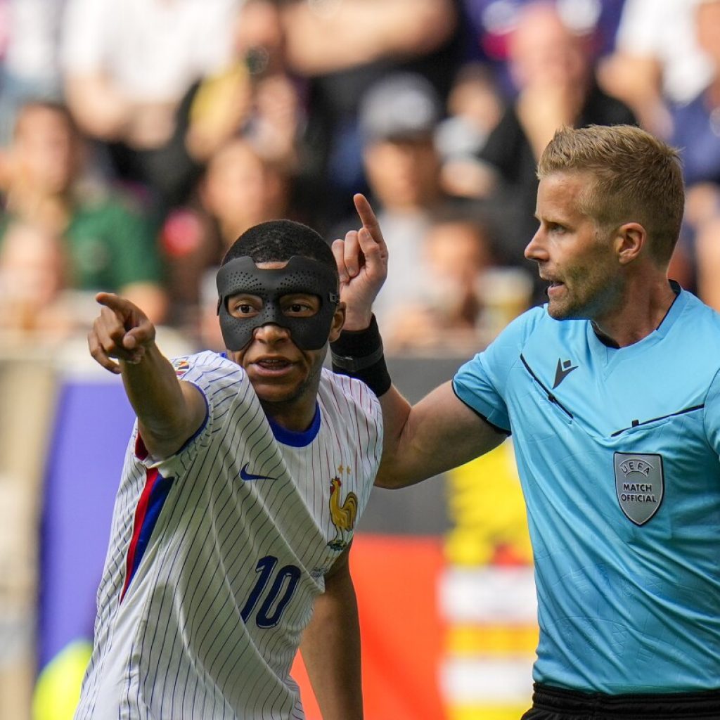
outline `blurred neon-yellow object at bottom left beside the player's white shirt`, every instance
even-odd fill
[[[91,653],[90,642],[77,640],[50,660],[35,685],[33,720],[73,719]]]

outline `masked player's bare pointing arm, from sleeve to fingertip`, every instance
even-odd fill
[[[107,292],[96,300],[102,308],[88,335],[90,354],[109,372],[122,375],[145,447],[156,459],[168,457],[202,425],[202,394],[176,377],[155,343],[155,326],[139,307]]]

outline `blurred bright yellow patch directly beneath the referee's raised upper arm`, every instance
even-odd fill
[[[531,564],[525,503],[511,441],[447,473],[449,514],[445,541],[456,565]]]

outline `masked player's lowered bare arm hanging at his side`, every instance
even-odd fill
[[[348,554],[325,575],[300,644],[302,660],[323,720],[362,720],[360,624]]]

